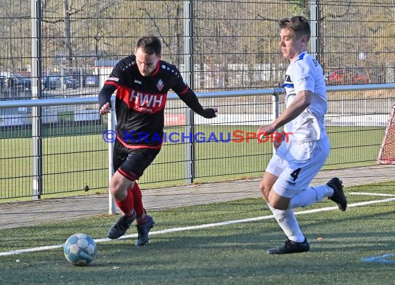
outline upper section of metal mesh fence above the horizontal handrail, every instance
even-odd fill
[[[274,88],[287,65],[277,21],[297,14],[311,21],[310,53],[328,84],[395,82],[392,0],[0,3],[4,99],[31,96],[26,78],[42,87],[40,98],[97,93],[147,33],[163,39],[163,58],[185,71],[197,92]]]

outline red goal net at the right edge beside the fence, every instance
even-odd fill
[[[395,104],[392,106],[391,116],[387,122],[377,162],[379,164],[395,164]]]

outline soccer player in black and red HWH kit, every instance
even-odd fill
[[[155,36],[141,37],[137,41],[134,55],[116,64],[99,93],[99,113],[104,115],[111,111],[111,96],[116,91],[115,173],[109,190],[122,214],[109,229],[109,239],[125,235],[136,220],[136,246],[148,242],[148,232],[155,221],[143,207],[136,181],[161,149],[164,107],[169,89],[200,116],[216,117],[216,109],[203,109],[177,67],[161,60],[161,41]]]

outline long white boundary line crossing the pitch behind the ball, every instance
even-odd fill
[[[349,193],[351,194],[351,193]],[[392,195],[394,196],[394,195]],[[375,201],[365,201],[365,202],[359,202],[359,203],[352,203],[348,205],[349,208],[352,207],[358,207],[358,206],[364,206],[364,205],[371,205],[371,204],[376,204],[376,203],[387,203],[387,202],[392,202],[395,201],[394,198],[389,198],[389,199],[383,199],[383,200],[375,200]],[[313,209],[313,210],[306,210],[306,211],[299,211],[295,212],[295,214],[311,214],[311,213],[316,213],[316,212],[324,212],[324,211],[331,211],[331,210],[337,210],[337,206],[334,207],[326,207],[326,208],[319,208],[319,209]],[[169,228],[167,230],[157,230],[154,232],[150,232],[150,235],[162,235],[162,234],[167,234],[170,232],[182,232],[185,230],[197,230],[200,228],[213,228],[216,226],[226,226],[226,225],[231,225],[234,223],[247,223],[250,221],[263,221],[267,219],[272,219],[273,215],[270,216],[262,216],[262,217],[256,217],[256,218],[248,218],[248,219],[240,219],[240,220],[234,220],[234,221],[222,221],[219,223],[206,223],[198,226],[188,226],[188,227],[182,227],[182,228]],[[137,237],[137,234],[134,235],[125,235],[123,237],[120,237],[119,239],[109,239],[109,238],[104,238],[104,239],[95,239],[96,243],[100,242],[106,242],[106,241],[116,241],[120,239],[129,239],[132,237]],[[0,252],[0,256],[6,256],[6,255],[19,255],[20,253],[25,253],[25,252],[37,252],[37,251],[43,251],[43,250],[52,250],[56,248],[62,248],[64,243],[62,244],[57,244],[55,246],[39,246],[37,248],[25,248],[21,250],[10,250],[10,251],[4,251]]]

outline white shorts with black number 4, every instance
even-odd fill
[[[327,136],[312,142],[283,142],[266,167],[266,172],[279,177],[273,190],[291,198],[307,189],[328,158],[330,148]]]

